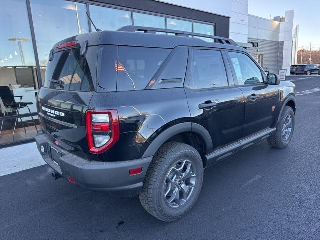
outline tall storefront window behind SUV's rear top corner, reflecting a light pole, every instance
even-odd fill
[[[65,38],[89,32],[86,5],[64,0],[30,0],[42,80],[50,49]]]

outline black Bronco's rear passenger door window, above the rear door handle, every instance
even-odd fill
[[[191,89],[228,86],[220,51],[193,50],[190,70]]]

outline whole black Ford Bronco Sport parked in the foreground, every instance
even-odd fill
[[[204,168],[266,138],[289,144],[295,94],[230,39],[127,26],[57,43],[37,107],[55,178],[139,195],[173,221],[198,198]]]

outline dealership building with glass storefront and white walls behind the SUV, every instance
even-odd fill
[[[19,117],[16,111],[5,110],[0,98],[0,147],[34,140],[35,99],[43,86],[50,49],[64,38],[94,31],[86,13],[102,30],[138,25],[229,37],[269,72],[287,69],[289,74],[296,59],[298,26],[293,26],[293,10],[265,19],[248,14],[248,0],[223,4],[219,0],[201,4],[195,0],[1,0],[0,86],[9,86],[14,96],[33,104],[31,113],[22,108]]]

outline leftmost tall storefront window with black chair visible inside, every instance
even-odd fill
[[[37,133],[34,116],[18,118],[29,113],[27,107],[15,109],[19,102],[27,102],[36,114],[37,77],[35,57],[25,0],[1,0],[0,6],[0,145],[33,138]],[[10,96],[10,97],[8,97]],[[11,117],[10,119],[3,118]],[[39,127],[38,127],[39,129]],[[13,138],[14,131],[14,138]]]

